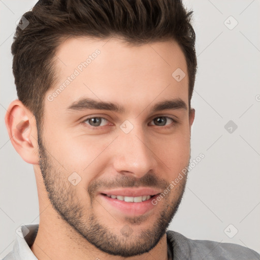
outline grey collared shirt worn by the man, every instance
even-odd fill
[[[16,232],[13,250],[3,260],[37,260],[30,250],[34,243],[39,224],[21,225]],[[231,243],[209,240],[192,240],[178,232],[167,231],[168,256],[173,260],[259,260],[256,251]]]

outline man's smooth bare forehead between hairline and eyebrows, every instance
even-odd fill
[[[135,46],[116,38],[69,38],[57,48],[55,68],[58,80],[47,95],[54,93],[51,106],[63,110],[82,96],[122,105],[131,100],[136,109],[166,96],[188,103],[185,56],[173,40]],[[180,70],[186,76],[177,81]]]

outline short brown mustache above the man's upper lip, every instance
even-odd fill
[[[169,182],[165,179],[159,179],[155,174],[148,173],[141,178],[129,175],[117,175],[115,178],[93,180],[88,185],[88,193],[93,198],[96,191],[106,188],[131,188],[131,187],[151,187],[165,189],[169,186]]]

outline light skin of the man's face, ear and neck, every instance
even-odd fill
[[[48,101],[47,96],[96,49],[101,53]],[[188,107],[184,54],[173,40],[128,46],[118,38],[69,38],[56,57],[58,77],[46,93],[42,133],[20,101],[13,101],[6,114],[12,144],[34,166],[36,176],[40,225],[32,252],[41,260],[168,259],[165,231],[178,209],[186,176],[140,216],[122,214],[98,192],[132,186],[163,191],[188,166],[194,109],[151,111],[169,99],[181,99]],[[177,68],[186,74],[180,82],[172,77]],[[83,96],[117,103],[125,112],[67,110]],[[153,119],[159,116],[177,123],[163,118],[166,125],[156,125]],[[106,120],[92,129],[84,121],[88,117]],[[134,127],[128,134],[120,128],[125,120]],[[74,172],[81,178],[77,185],[68,180]],[[131,232],[123,235],[122,229]]]

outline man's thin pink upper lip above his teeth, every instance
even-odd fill
[[[126,197],[140,197],[145,195],[153,196],[161,192],[156,188],[139,187],[139,188],[120,188],[120,189],[103,190],[100,193],[108,194],[108,195],[126,196]]]

